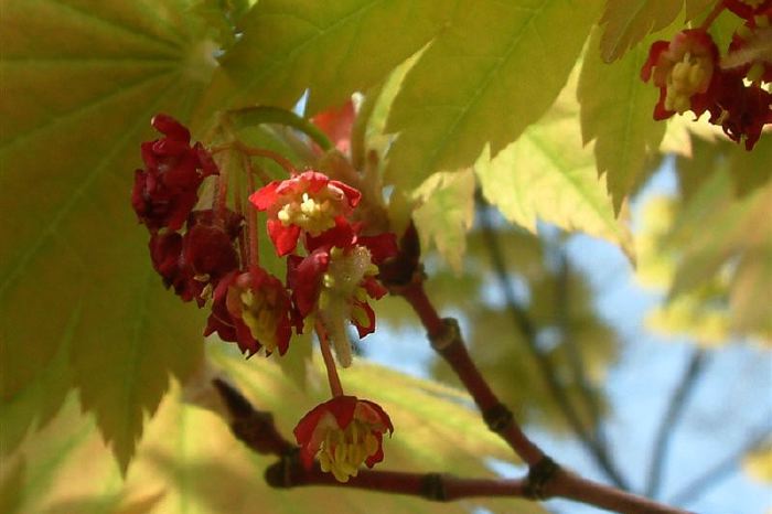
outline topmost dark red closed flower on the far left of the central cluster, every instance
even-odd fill
[[[199,186],[218,173],[217,165],[201,143],[190,146],[190,132],[174,118],[157,115],[151,124],[164,137],[142,143],[146,169],[135,172],[131,205],[149,231],[178,231],[199,200]]]

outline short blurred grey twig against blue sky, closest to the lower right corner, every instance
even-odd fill
[[[662,472],[665,465],[667,450],[673,438],[674,427],[678,424],[678,420],[684,414],[687,399],[695,389],[699,378],[703,376],[706,361],[707,354],[705,351],[696,350],[689,358],[689,363],[684,371],[678,386],[673,392],[667,410],[662,418],[657,436],[654,440],[652,462],[648,469],[648,479],[645,489],[646,496],[655,497],[660,493]]]

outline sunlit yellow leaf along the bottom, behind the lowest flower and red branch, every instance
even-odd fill
[[[275,364],[244,361],[227,349],[212,345],[215,366],[223,370],[215,373],[225,373],[257,408],[272,411],[286,436],[307,409],[328,395],[320,374],[309,395],[287,381]],[[511,456],[508,447],[468,407],[470,399],[464,394],[362,362],[346,371],[343,381],[350,394],[382,404],[396,426],[394,437],[384,441],[386,459],[378,464],[380,469],[491,476],[482,462],[484,456]],[[383,387],[385,383],[389,387]],[[210,389],[203,394],[215,393]],[[196,401],[202,401],[201,397]],[[22,446],[29,462],[22,471],[10,460],[0,463],[1,475],[10,478],[3,484],[17,484],[19,513],[138,514],[148,508],[163,513],[253,513],[256,508],[293,513],[298,505],[310,514],[331,510],[462,513],[472,505],[399,495],[383,495],[373,502],[371,492],[341,488],[298,488],[291,493],[272,490],[264,482],[262,472],[276,458],[251,453],[215,411],[181,403],[180,389],[174,387],[149,424],[124,483],[94,424],[79,416],[77,401],[71,398],[47,428]],[[416,462],[420,462],[418,468]],[[530,502],[506,500],[506,505],[517,512],[544,512]]]

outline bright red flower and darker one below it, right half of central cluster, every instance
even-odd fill
[[[367,299],[386,293],[375,279],[377,265],[397,254],[394,234],[362,236],[362,225],[347,219],[360,197],[357,190],[315,171],[271,182],[249,197],[267,212],[277,253],[291,254],[287,282],[297,314],[317,315],[344,367],[351,364],[344,322],[350,320],[360,336],[375,330]],[[308,251],[304,257],[292,254],[300,238]]]

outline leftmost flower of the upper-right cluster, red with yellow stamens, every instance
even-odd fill
[[[660,88],[660,101],[654,119],[665,119],[675,113],[691,109],[700,116],[711,104],[709,90],[718,68],[718,49],[701,29],[685,30],[673,41],[656,41],[641,69],[641,78]]]

